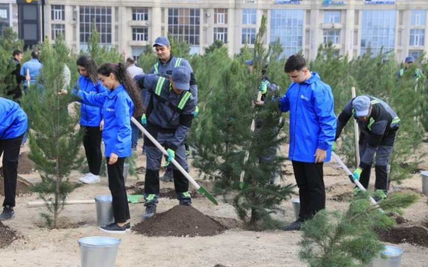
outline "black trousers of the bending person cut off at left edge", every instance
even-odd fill
[[[3,206],[15,206],[18,156],[24,135],[11,139],[0,139],[0,156],[3,154],[3,177],[5,180],[5,200]]]

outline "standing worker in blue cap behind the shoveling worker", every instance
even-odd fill
[[[190,66],[189,61],[183,58],[174,57],[171,52],[171,43],[165,36],[159,36],[154,40],[153,44],[154,50],[156,52],[157,57],[159,60],[152,66],[150,69],[150,73],[155,74],[168,74],[171,75],[172,69],[178,66],[184,66],[187,67],[190,70],[190,92],[192,93],[192,96],[194,97],[196,103],[198,102],[198,86],[196,85],[196,79],[195,74],[193,73],[193,69]],[[199,109],[198,106],[196,106],[195,114],[194,116],[198,116]],[[142,121],[144,121],[145,118],[142,118]],[[185,144],[186,146],[186,154],[189,155],[189,146]],[[168,164],[168,163],[167,163]],[[161,180],[173,180],[172,170],[171,166],[167,165],[166,171],[164,176],[161,177]]]

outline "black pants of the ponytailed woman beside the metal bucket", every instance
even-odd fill
[[[126,196],[125,179],[123,178],[123,165],[125,157],[119,157],[113,165],[109,164],[110,157],[106,157],[107,172],[109,174],[109,189],[113,197],[113,215],[116,223],[124,223],[131,217],[129,215],[128,198]]]

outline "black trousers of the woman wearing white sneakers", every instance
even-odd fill
[[[102,131],[99,130],[99,126],[85,126],[83,146],[85,147],[89,171],[94,175],[99,175],[101,168],[101,135]]]

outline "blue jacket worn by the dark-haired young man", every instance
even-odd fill
[[[288,158],[298,162],[315,162],[317,148],[327,150],[324,162],[330,161],[336,135],[333,94],[316,72],[301,84],[292,83],[279,99],[279,109],[290,111],[290,147]]]

